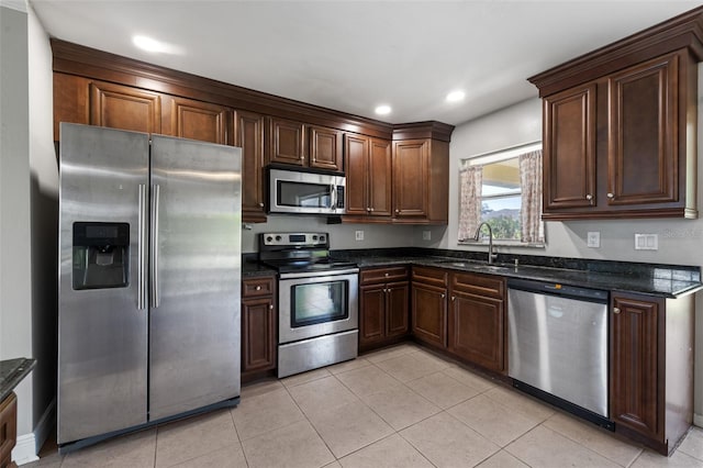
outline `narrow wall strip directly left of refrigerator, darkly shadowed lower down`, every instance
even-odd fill
[[[54,148],[52,48],[27,11],[32,243],[32,357],[34,453],[55,422],[58,322],[58,163]],[[26,450],[29,453],[30,448]]]

